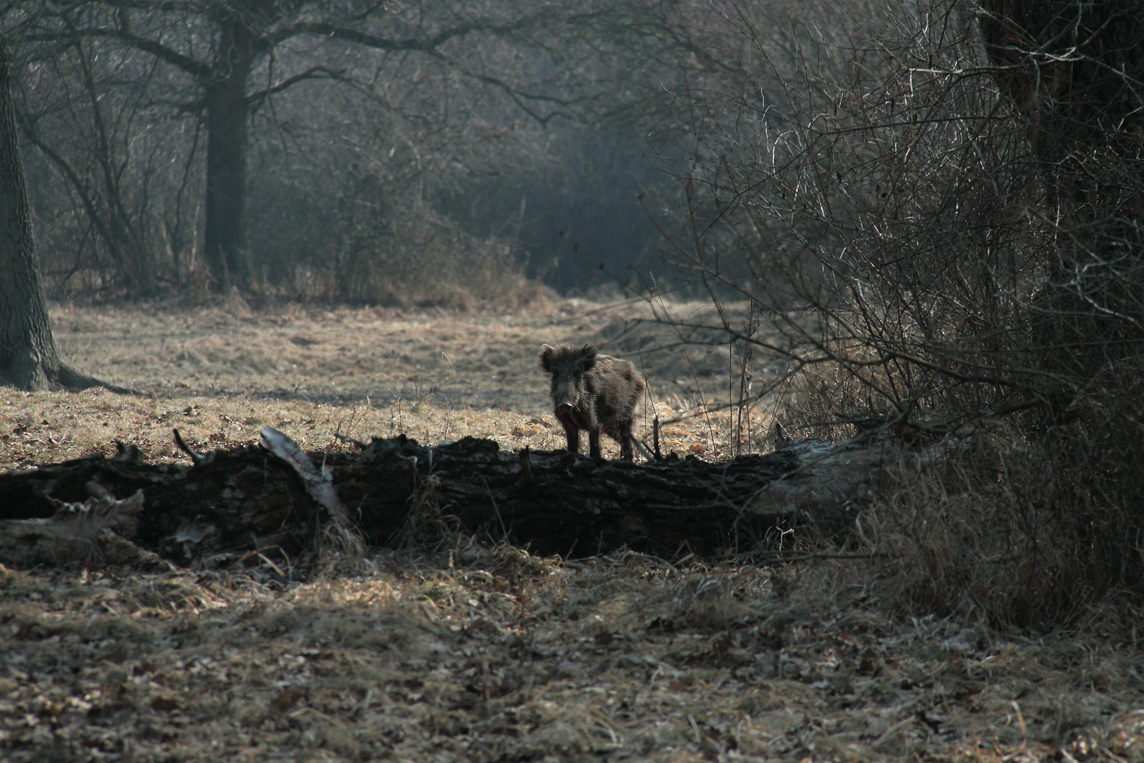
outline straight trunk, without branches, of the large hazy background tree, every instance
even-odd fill
[[[246,246],[246,80],[254,37],[239,13],[221,10],[217,80],[206,86],[206,260],[215,285],[245,291],[251,284]]]

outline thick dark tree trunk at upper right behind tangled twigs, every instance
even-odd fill
[[[1027,119],[1057,228],[1034,297],[1044,365],[1090,379],[1144,347],[1144,5],[983,0],[993,73]]]

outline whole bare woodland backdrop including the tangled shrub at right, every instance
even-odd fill
[[[847,541],[885,601],[1043,625],[1144,595],[1138,1],[37,0],[0,27],[49,296],[690,289],[740,411],[781,390],[791,436],[900,446]]]

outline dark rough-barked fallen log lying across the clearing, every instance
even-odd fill
[[[257,446],[217,451],[193,466],[148,464],[137,451],[121,448],[116,458],[0,475],[0,537],[25,531],[14,520],[43,523],[61,502],[143,491],[129,537],[166,559],[216,565],[267,548],[292,555],[312,547],[329,520],[311,495],[324,490],[309,474],[320,468],[344,507],[337,511],[348,511],[371,546],[423,542],[453,528],[507,538],[540,554],[627,546],[708,556],[758,548],[774,527],[796,518],[827,531],[845,525],[884,454],[802,444],[721,463],[690,456],[627,463],[563,451],[509,453],[474,438],[424,447],[399,436],[374,439],[356,454],[310,458],[319,467],[301,469],[307,480]],[[0,562],[27,561],[5,548]],[[41,551],[47,561],[61,558]]]

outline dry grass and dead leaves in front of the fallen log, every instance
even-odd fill
[[[6,760],[1144,760],[1138,650],[813,610],[764,570],[251,572],[3,571]]]

